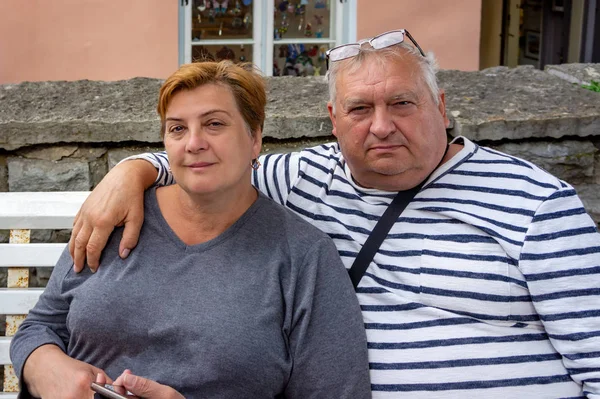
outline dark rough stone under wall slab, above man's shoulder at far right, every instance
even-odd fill
[[[588,140],[507,143],[494,148],[533,162],[571,184],[593,182],[594,158],[600,153]]]

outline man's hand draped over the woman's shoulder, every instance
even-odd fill
[[[92,191],[73,222],[69,252],[73,269],[96,271],[100,255],[115,226],[125,225],[119,255],[126,258],[137,245],[144,221],[144,190],[156,179],[149,162],[133,160],[115,166]]]

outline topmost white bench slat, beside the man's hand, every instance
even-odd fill
[[[70,229],[88,191],[0,195],[0,229]]]

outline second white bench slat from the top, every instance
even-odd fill
[[[67,244],[0,244],[0,267],[53,267]]]

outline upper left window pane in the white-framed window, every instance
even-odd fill
[[[192,43],[252,38],[252,0],[194,0]]]

